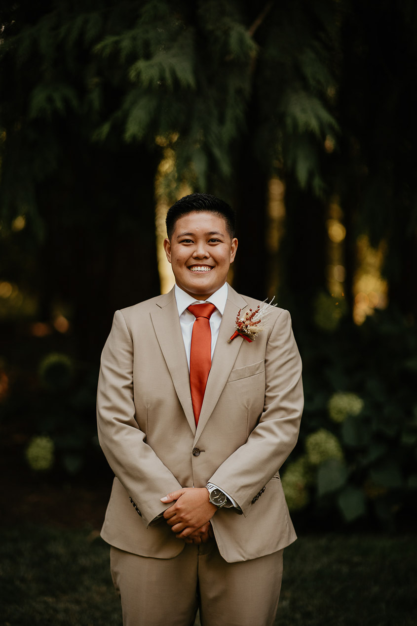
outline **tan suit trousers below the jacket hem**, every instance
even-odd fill
[[[111,574],[124,626],[272,626],[283,550],[228,563],[216,542],[186,544],[177,557],[141,557],[111,546]]]

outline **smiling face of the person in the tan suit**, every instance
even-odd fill
[[[224,285],[237,247],[224,218],[209,211],[179,217],[171,239],[164,240],[176,284],[196,300],[206,300]]]

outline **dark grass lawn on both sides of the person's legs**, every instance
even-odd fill
[[[416,554],[417,536],[303,536],[284,555],[276,623],[415,626]],[[0,625],[121,626],[96,531],[3,528]]]

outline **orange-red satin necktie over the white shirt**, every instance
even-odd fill
[[[206,304],[191,304],[188,310],[196,317],[189,353],[189,386],[197,426],[211,367],[210,317],[216,307],[211,302],[207,302]]]

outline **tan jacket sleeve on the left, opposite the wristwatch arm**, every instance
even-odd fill
[[[101,355],[97,394],[99,443],[109,465],[138,506],[148,526],[171,505],[159,498],[181,485],[145,443],[135,419],[133,342],[121,311]]]

